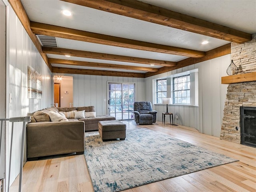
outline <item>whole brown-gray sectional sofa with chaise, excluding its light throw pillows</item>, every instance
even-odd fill
[[[113,116],[102,115],[88,118],[66,118],[51,121],[51,114],[64,116],[74,111],[94,112],[94,106],[74,108],[46,108],[30,114],[31,122],[26,126],[27,158],[33,160],[41,156],[56,154],[84,153],[84,132],[98,130],[98,122],[115,120]]]

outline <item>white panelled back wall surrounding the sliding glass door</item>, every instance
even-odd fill
[[[135,101],[145,100],[144,78],[74,75],[74,106],[95,106],[96,115],[107,114],[107,82],[134,82]]]

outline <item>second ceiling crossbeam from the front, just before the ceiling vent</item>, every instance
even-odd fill
[[[104,34],[81,31],[71,28],[43,24],[38,22],[30,22],[30,28],[34,34],[41,34],[59,38],[66,38],[90,43],[104,44],[109,46],[118,46],[137,50],[160,52],[166,54],[174,54],[187,57],[203,57],[205,52],[178,48],[167,45],[148,43],[143,41],[131,40],[126,38],[114,37]]]

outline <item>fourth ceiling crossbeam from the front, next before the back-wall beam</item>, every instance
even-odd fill
[[[107,64],[107,63],[94,63],[94,62],[86,62],[86,61],[73,61],[73,60],[54,59],[54,58],[48,58],[48,62],[51,64],[64,64],[64,65],[74,65],[74,66],[84,66],[84,67],[112,68],[112,69],[147,71],[147,72],[158,71],[158,68],[116,65],[116,64]]]

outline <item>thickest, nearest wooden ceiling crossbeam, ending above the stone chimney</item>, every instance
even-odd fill
[[[186,30],[230,42],[244,43],[252,35],[216,23],[136,0],[62,0],[114,14]]]

